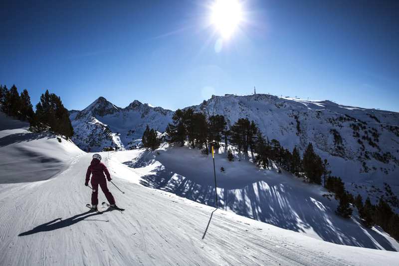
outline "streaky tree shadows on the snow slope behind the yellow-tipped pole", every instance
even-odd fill
[[[203,173],[195,167],[191,169],[191,175],[197,175],[197,177],[191,178],[189,173],[182,171],[181,167],[175,163],[171,163],[172,156],[168,156],[167,159],[163,159],[166,157],[162,156],[157,156],[162,166],[154,169],[150,175],[143,176],[142,185],[168,191],[208,206],[216,206],[212,178],[204,176],[199,179],[198,176]],[[143,167],[152,162],[153,157],[151,162],[146,162],[143,156],[136,164],[125,164],[130,167]],[[301,182],[298,181],[298,183]],[[286,185],[280,175],[272,172],[261,180],[246,183],[241,181],[238,185],[234,183],[233,187],[227,181],[218,181],[218,205],[220,209],[231,210],[238,215],[283,229],[316,233],[322,240],[335,244],[396,251],[384,236],[363,227],[355,219],[345,220],[336,216],[335,207],[330,208],[332,204],[329,199],[317,194],[309,196],[306,191],[300,192],[301,186],[306,190],[310,189],[311,185],[303,183],[299,187]]]

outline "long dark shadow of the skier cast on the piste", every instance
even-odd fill
[[[108,212],[108,211],[110,211],[110,210],[103,211],[102,213],[105,213],[105,212]],[[40,232],[48,232],[48,231],[53,231],[53,230],[57,230],[57,229],[60,229],[60,228],[68,227],[68,226],[76,224],[77,222],[85,220],[85,218],[96,216],[96,215],[100,215],[100,213],[87,211],[87,212],[84,212],[84,213],[77,214],[75,216],[69,217],[69,218],[67,218],[65,220],[62,220],[62,218],[57,218],[57,219],[55,219],[53,221],[50,221],[48,223],[36,226],[32,230],[20,233],[18,235],[18,237],[28,236],[28,235],[32,235],[32,234],[36,234],[36,233],[40,233]],[[86,220],[86,221],[109,222],[109,221],[106,221],[106,220]]]

